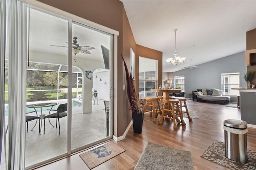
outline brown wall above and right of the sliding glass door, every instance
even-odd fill
[[[124,6],[119,0],[38,0],[60,10],[69,12],[86,20],[90,20],[102,26],[106,26],[119,32],[117,58],[114,59],[117,67],[114,68],[114,110],[117,117],[114,117],[114,135],[122,136],[132,120],[129,110],[129,103],[126,90],[123,90],[123,84],[126,84],[125,71],[121,58],[123,55],[128,68],[130,68],[130,48],[132,47],[136,54],[136,63],[138,56],[158,59],[159,82],[162,81],[162,52],[154,49],[136,45],[132,30]],[[137,48],[139,50],[137,51]],[[136,64],[136,76],[138,76],[138,65]],[[138,79],[136,82],[138,87]],[[115,90],[114,90],[115,91]]]

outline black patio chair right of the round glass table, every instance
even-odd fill
[[[45,131],[45,119],[47,118],[56,118],[56,128],[57,128],[57,121],[59,122],[59,134],[60,134],[60,118],[66,117],[68,115],[68,103],[60,104],[56,110],[54,109],[47,109],[49,111],[49,115],[44,117],[44,131]],[[50,114],[51,111],[57,111],[56,113]]]

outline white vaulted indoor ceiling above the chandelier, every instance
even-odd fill
[[[246,50],[256,28],[256,0],[121,0],[137,44],[163,52],[163,71],[173,72]],[[178,56],[174,66],[175,33]],[[143,56],[142,56],[143,57]]]

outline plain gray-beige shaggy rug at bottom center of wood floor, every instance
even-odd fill
[[[148,142],[134,170],[193,170],[189,151]]]

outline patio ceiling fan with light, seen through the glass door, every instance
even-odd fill
[[[90,47],[90,46],[79,46],[79,44],[77,43],[77,37],[74,37],[73,38],[73,43],[72,43],[72,51],[73,53],[75,54],[78,54],[78,53],[85,53],[85,54],[90,54],[90,51],[88,50],[91,50],[91,49],[95,49],[94,47]],[[68,42],[67,42],[68,43]],[[51,46],[55,46],[55,47],[67,47],[67,46],[61,46],[61,45],[51,45]],[[76,58],[74,57],[74,60],[76,62]]]

